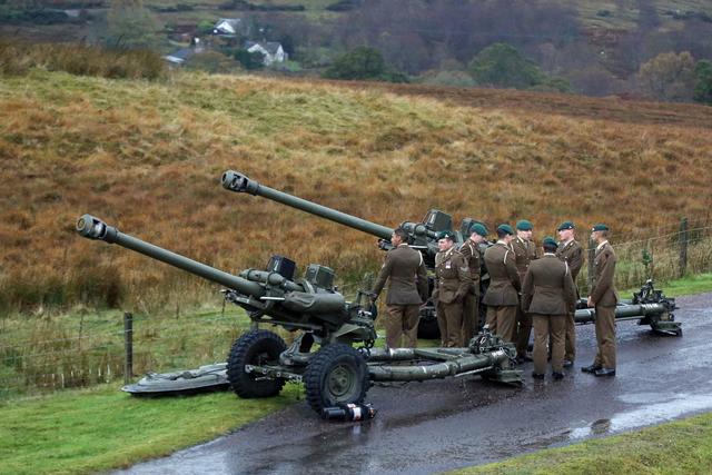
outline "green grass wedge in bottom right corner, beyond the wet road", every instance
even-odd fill
[[[712,471],[712,414],[536,452],[453,474],[704,474]]]

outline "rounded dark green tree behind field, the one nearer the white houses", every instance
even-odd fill
[[[323,76],[328,79],[372,79],[390,82],[408,80],[402,72],[386,66],[380,51],[366,46],[357,47],[336,58]]]

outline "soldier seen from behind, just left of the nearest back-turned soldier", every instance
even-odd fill
[[[514,343],[518,291],[522,288],[511,243],[514,230],[510,225],[497,226],[497,243],[485,250],[485,266],[490,287],[482,301],[487,306],[490,329],[506,342]]]

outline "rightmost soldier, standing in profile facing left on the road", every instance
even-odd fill
[[[589,296],[589,307],[596,309],[596,343],[599,350],[591,366],[581,368],[596,376],[615,376],[615,305],[619,295],[613,285],[615,275],[615,253],[609,244],[609,227],[595,225],[591,229],[591,239],[596,246],[593,259],[594,278]]]

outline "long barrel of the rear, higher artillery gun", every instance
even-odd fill
[[[380,239],[389,240],[390,235],[393,234],[393,228],[380,226],[375,222],[367,221],[366,219],[357,218],[355,216],[347,215],[346,212],[337,211],[335,209],[327,208],[326,206],[317,205],[316,202],[266,187],[238,171],[228,170],[224,172],[222,187],[235,192],[261,196],[291,208],[300,209],[310,215],[316,215],[340,225],[358,229],[372,236],[379,237]],[[425,231],[425,227],[423,227],[423,229]]]

